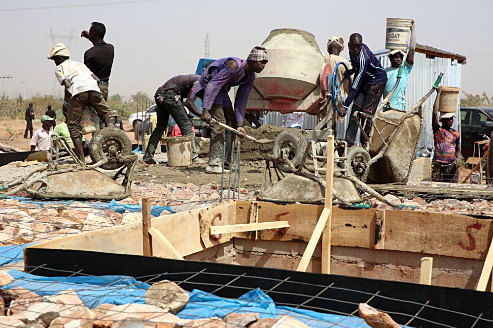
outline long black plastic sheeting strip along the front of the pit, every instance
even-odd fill
[[[185,290],[227,298],[258,287],[269,291],[276,304],[303,303],[300,308],[325,313],[352,313],[357,303],[373,296],[368,304],[391,313],[396,322],[404,324],[418,314],[412,327],[471,327],[480,315],[493,319],[493,293],[473,290],[80,250],[26,248],[24,259],[26,271],[36,275],[68,276],[80,270],[80,274],[129,275],[147,282],[168,279],[181,282]],[[474,327],[493,326],[479,320]]]

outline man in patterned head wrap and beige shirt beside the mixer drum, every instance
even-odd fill
[[[344,64],[346,64],[346,66],[348,67],[348,69],[351,69],[352,66],[351,66],[351,62],[349,60],[347,60],[346,58],[344,57],[341,57],[339,56],[341,51],[344,50],[344,39],[342,38],[342,36],[340,35],[334,35],[334,36],[331,36],[329,38],[329,40],[327,41],[327,52],[328,54],[323,54],[323,58],[325,60],[325,63],[326,64],[329,64],[330,67],[332,67],[332,70],[336,68],[336,65],[340,62],[343,62]],[[337,80],[339,82],[341,82],[344,78],[344,72],[346,71],[346,69],[344,68],[344,66],[342,65],[339,65],[339,67],[337,68]],[[342,88],[341,88],[341,95],[342,95],[342,99],[346,99],[347,96],[348,96],[348,92],[349,92],[349,84],[348,84],[348,81],[344,81],[343,85],[342,85]],[[335,97],[335,95],[334,95]],[[342,104],[342,101],[340,98],[338,98],[338,107],[342,107],[343,104]],[[325,111],[326,111],[326,108],[325,108]],[[323,113],[325,114],[325,113]],[[321,115],[320,119],[323,119],[323,117],[325,117],[325,115]]]

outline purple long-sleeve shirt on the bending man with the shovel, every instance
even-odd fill
[[[237,69],[230,69],[226,61],[235,60]],[[224,107],[232,106],[228,92],[232,87],[239,86],[235,97],[235,117],[237,122],[243,122],[246,111],[248,95],[255,81],[255,73],[245,75],[246,60],[236,57],[227,57],[214,61],[202,73],[199,84],[192,92],[192,97],[202,96],[202,108],[210,110],[213,104],[221,104]]]

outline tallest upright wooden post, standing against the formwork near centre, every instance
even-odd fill
[[[315,154],[315,143],[312,143]],[[315,160],[315,162],[317,162]],[[322,273],[330,274],[330,245],[332,232],[332,192],[334,186],[334,137],[327,137],[327,169],[325,173],[324,208],[329,210],[329,217],[322,231]],[[323,214],[323,212],[322,212]],[[306,269],[305,269],[306,270]]]

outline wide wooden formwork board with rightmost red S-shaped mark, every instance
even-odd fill
[[[466,215],[386,210],[383,249],[484,259],[492,220]]]

